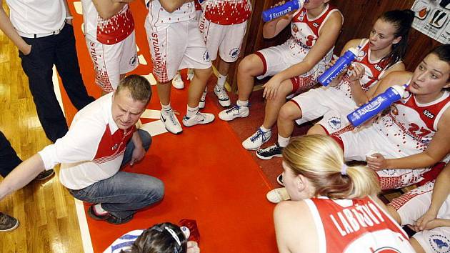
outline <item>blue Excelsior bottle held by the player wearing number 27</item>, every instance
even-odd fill
[[[388,108],[395,101],[399,101],[404,96],[407,87],[408,84],[389,87],[389,89],[386,89],[383,93],[375,96],[374,99],[367,104],[364,104],[351,114],[347,115],[347,119],[349,119],[354,127],[358,127],[360,124],[363,124],[376,114],[379,114],[381,111]]]

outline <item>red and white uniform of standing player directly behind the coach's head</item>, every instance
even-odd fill
[[[114,91],[120,75],[139,64],[134,38],[134,19],[128,4],[110,19],[102,19],[92,0],[82,0],[84,34],[94,63],[96,84]]]

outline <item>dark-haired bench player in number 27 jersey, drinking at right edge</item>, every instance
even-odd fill
[[[392,104],[389,113],[334,136],[347,160],[366,161],[377,172],[381,189],[420,182],[450,152],[450,45],[436,47],[414,73],[386,76],[374,96],[398,84],[409,84],[409,96]]]

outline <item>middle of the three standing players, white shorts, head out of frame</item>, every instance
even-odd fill
[[[146,0],[149,14],[145,29],[153,60],[153,74],[161,102],[161,121],[167,131],[183,131],[170,104],[171,79],[176,71],[194,68],[194,77],[188,91],[185,127],[208,124],[213,114],[201,113],[199,101],[211,76],[211,60],[195,21],[195,6],[191,0]]]

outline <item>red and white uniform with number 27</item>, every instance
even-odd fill
[[[420,104],[413,95],[391,105],[389,114],[379,117],[369,127],[344,132],[339,137],[344,143],[347,160],[365,161],[366,155],[380,153],[385,158],[401,158],[424,152],[437,132],[442,114],[450,106],[450,92],[428,104]],[[447,161],[446,157],[444,161]],[[420,182],[423,169],[384,169],[376,172],[382,189],[406,187]]]

